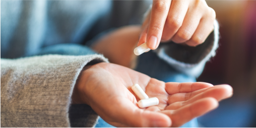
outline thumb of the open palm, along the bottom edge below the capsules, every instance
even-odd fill
[[[113,126],[128,126],[132,128],[162,128],[171,126],[171,119],[168,116],[159,112],[139,109],[126,98],[118,98],[115,104],[116,107],[112,106],[109,111],[111,113],[108,113],[108,117],[112,117],[113,120],[106,120],[106,122]]]

